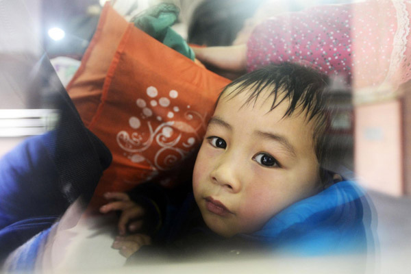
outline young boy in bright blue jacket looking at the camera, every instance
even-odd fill
[[[101,212],[121,210],[121,236],[113,247],[126,257],[136,253],[138,260],[147,253],[175,258],[199,250],[219,254],[216,250],[273,246],[327,252],[363,243],[362,193],[349,182],[333,184],[338,175],[323,169],[326,88],[324,75],[290,63],[266,66],[229,84],[197,155],[195,203],[189,196],[170,217],[160,206],[164,199],[155,198],[160,190],[154,184],[132,195],[106,193],[115,201]],[[151,228],[126,236],[127,230],[139,232],[146,217]],[[158,240],[152,232],[161,222]],[[147,247],[151,238],[161,248]]]

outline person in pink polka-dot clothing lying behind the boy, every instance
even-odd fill
[[[408,1],[319,5],[265,18],[227,47],[193,48],[232,78],[270,63],[299,62],[353,88],[397,90],[410,79]]]

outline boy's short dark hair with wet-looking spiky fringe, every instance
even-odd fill
[[[264,66],[235,79],[225,86],[219,99],[227,88],[234,88],[227,95],[232,97],[250,90],[245,104],[255,104],[262,91],[269,88],[271,94],[267,98],[273,98],[271,110],[285,99],[290,101],[284,117],[291,116],[297,108],[301,108],[299,114],[304,114],[307,121],[314,122],[314,151],[320,166],[324,166],[327,150],[327,100],[324,96],[325,90],[329,88],[327,75],[306,66],[283,62]],[[321,180],[326,183],[329,178],[323,169],[320,175]]]

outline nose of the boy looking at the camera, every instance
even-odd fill
[[[223,186],[229,192],[239,192],[241,190],[238,163],[225,158],[214,167],[210,173],[212,182]]]

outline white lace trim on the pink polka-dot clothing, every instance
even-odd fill
[[[404,53],[407,47],[407,37],[410,34],[410,18],[408,18],[408,11],[406,3],[403,0],[392,0],[394,8],[397,13],[397,31],[393,40],[393,52],[390,58],[390,67],[384,83],[390,82],[395,72],[399,69],[401,61],[404,58]]]

